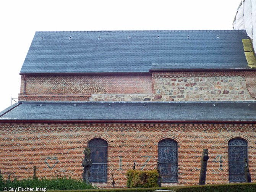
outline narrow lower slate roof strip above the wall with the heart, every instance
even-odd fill
[[[24,102],[1,120],[256,121],[256,102]]]

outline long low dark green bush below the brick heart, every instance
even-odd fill
[[[1,182],[1,181],[0,181]],[[29,177],[28,179],[23,179],[21,181],[17,179],[13,179],[13,181],[4,181],[0,183],[0,191],[3,191],[3,188],[9,187],[16,188],[46,188],[50,189],[58,189],[58,190],[73,190],[73,189],[94,189],[91,185],[86,184],[82,180],[72,179],[71,177],[57,177],[52,179],[42,178],[42,179],[32,179]]]

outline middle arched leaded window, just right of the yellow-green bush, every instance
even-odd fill
[[[175,140],[159,141],[158,161],[162,182],[178,182],[178,144]]]

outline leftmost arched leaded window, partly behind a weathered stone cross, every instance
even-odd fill
[[[107,142],[103,139],[89,141],[92,167],[90,182],[107,182]]]

